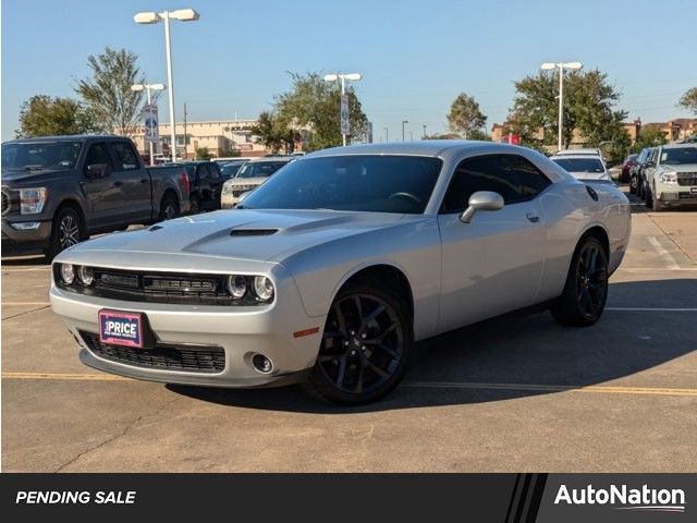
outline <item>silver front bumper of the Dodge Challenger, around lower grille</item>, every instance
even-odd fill
[[[193,306],[107,300],[54,285],[50,300],[53,312],[78,341],[81,361],[90,367],[168,384],[252,388],[302,379],[315,364],[320,346],[325,317],[306,315],[292,279],[276,283],[277,297],[268,306]],[[101,357],[81,337],[81,331],[98,333],[101,308],[144,313],[157,343],[220,346],[225,354],[224,368],[218,373],[174,370]],[[315,327],[318,328],[316,333],[294,336],[294,332]],[[254,368],[252,356],[257,353],[271,360],[271,373],[261,374]]]

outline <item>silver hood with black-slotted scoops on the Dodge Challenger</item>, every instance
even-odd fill
[[[57,260],[189,269],[224,266],[229,259],[280,263],[323,242],[391,227],[404,216],[333,210],[221,210],[138,231],[107,234],[75,245]]]

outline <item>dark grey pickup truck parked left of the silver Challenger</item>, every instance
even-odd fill
[[[133,142],[74,135],[2,144],[2,250],[50,259],[89,234],[187,212],[183,166],[146,168]]]

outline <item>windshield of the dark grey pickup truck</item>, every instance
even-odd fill
[[[83,142],[2,144],[3,169],[71,169],[77,163]]]

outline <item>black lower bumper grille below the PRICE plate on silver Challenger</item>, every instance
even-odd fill
[[[135,367],[209,374],[225,368],[225,351],[220,346],[160,344],[152,349],[132,349],[102,343],[93,332],[81,331],[80,336],[97,356]]]

